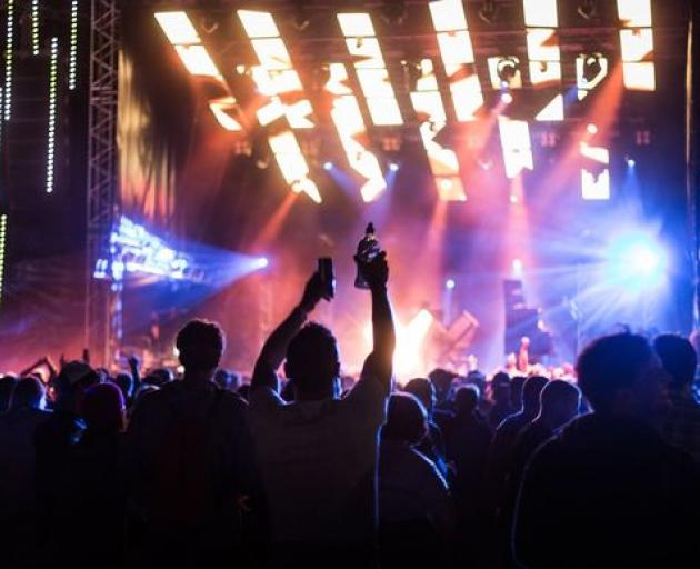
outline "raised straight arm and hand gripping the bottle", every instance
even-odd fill
[[[364,280],[370,287],[372,296],[372,352],[364,362],[364,371],[374,376],[379,381],[391,382],[393,350],[397,336],[393,327],[393,315],[387,293],[389,264],[387,253],[381,251],[369,263],[357,260]]]

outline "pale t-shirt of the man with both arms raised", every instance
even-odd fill
[[[372,539],[377,448],[389,386],[363,377],[344,399],[250,396],[250,423],[276,541]]]

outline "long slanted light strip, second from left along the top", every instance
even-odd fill
[[[267,126],[286,117],[291,128],[313,128],[309,120],[311,103],[306,98],[292,106],[284,104],[280,98],[280,94],[302,92],[303,88],[272,14],[252,10],[238,10],[237,14],[260,60],[260,66],[252,69],[252,79],[260,93],[270,98],[270,102],[257,111],[260,124]],[[294,133],[284,129],[270,136],[269,142],[287,184],[320,203],[321,194],[309,178],[309,164]]]

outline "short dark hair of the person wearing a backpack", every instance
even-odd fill
[[[214,322],[190,320],[178,332],[176,347],[184,369],[212,370],[219,366],[226,339]]]

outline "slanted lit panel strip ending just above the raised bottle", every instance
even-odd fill
[[[348,159],[348,164],[364,178],[360,189],[364,201],[374,200],[387,189],[379,160],[364,144],[368,140],[364,119],[352,89],[348,87],[348,71],[342,63],[329,66],[329,79],[323,89],[333,97],[331,120]]]

